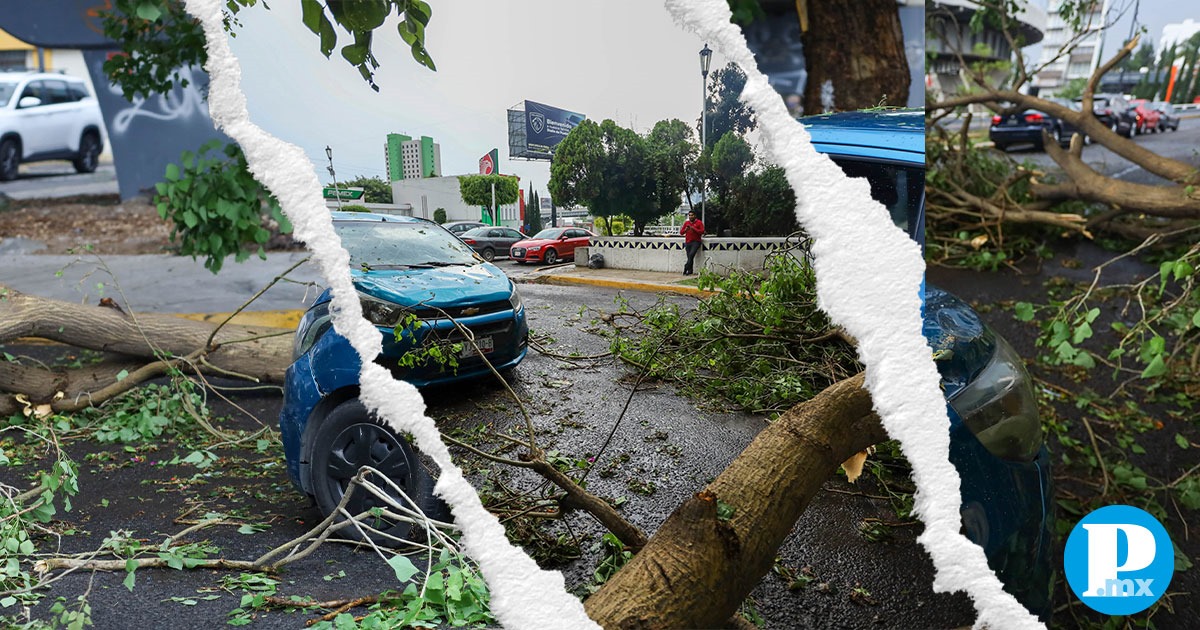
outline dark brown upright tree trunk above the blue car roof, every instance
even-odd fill
[[[804,43],[804,113],[826,110],[822,90],[833,88],[839,112],[908,101],[908,58],[893,0],[808,2]],[[828,96],[827,96],[828,98]]]

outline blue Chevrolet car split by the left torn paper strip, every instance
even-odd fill
[[[396,378],[418,388],[454,384],[491,374],[487,361],[504,373],[524,359],[529,329],[521,295],[469,246],[418,218],[367,212],[334,212],[332,218],[350,254],[362,316],[383,337],[376,362]],[[432,493],[433,478],[408,439],[359,401],[361,362],[334,330],[330,300],[329,290],[320,294],[296,329],[280,414],[288,475],[329,515],[349,480],[371,466],[426,514],[448,520],[445,504]],[[382,503],[360,491],[347,510],[361,514]],[[373,524],[398,538],[409,533],[404,523]]]

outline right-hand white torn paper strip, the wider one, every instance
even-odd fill
[[[865,179],[850,179],[816,152],[808,131],[758,72],[725,0],[666,0],[680,25],[696,31],[746,74],[742,101],[755,110],[767,155],[787,172],[796,215],[812,236],[817,304],[858,340],[866,389],[888,436],[899,439],[917,484],[918,538],[932,557],[934,590],[964,590],[976,628],[1042,628],[1003,590],[983,548],[960,533],[959,474],[949,461],[949,418],[941,378],[922,335],[920,248],[892,224]]]

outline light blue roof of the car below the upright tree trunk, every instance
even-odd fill
[[[880,109],[798,119],[822,154],[925,164],[925,112]]]

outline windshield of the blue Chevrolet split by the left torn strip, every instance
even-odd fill
[[[367,269],[404,269],[479,264],[470,247],[426,223],[335,221],[334,228],[350,253],[354,269],[364,265]]]

